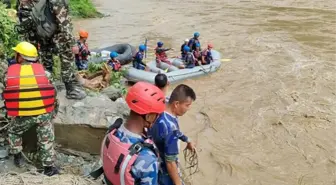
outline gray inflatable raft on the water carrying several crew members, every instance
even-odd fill
[[[169,59],[173,65],[163,63],[160,68],[156,66],[156,61],[147,63],[150,71],[138,70],[134,67],[129,67],[125,77],[132,82],[146,81],[154,84],[154,78],[157,73],[165,73],[170,83],[176,83],[185,79],[195,78],[203,75],[213,73],[221,66],[220,53],[212,50],[213,62],[208,65],[195,66],[191,69],[178,69],[176,66],[181,65],[183,62],[181,59]],[[165,70],[168,68],[168,72]]]

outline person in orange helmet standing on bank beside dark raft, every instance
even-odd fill
[[[88,37],[89,33],[87,31],[80,30],[77,46],[74,46],[72,49],[75,54],[75,62],[78,71],[88,69],[88,56],[90,55],[89,45],[86,42]]]

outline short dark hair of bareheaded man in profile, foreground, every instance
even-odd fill
[[[190,97],[193,101],[196,100],[196,94],[194,90],[185,84],[180,84],[175,87],[172,94],[170,95],[169,104],[173,103],[174,101],[187,101],[188,97]]]

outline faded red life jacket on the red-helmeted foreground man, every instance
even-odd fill
[[[134,144],[121,142],[115,136],[115,132],[121,124],[122,119],[118,118],[108,129],[101,147],[103,166],[90,173],[95,179],[104,173],[105,181],[108,185],[135,184],[135,179],[131,175],[131,168],[138,154],[144,148],[152,150],[157,157],[159,156],[158,149],[150,139]]]

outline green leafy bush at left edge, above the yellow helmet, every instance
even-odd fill
[[[13,56],[12,47],[19,42],[19,36],[15,31],[15,19],[8,15],[10,10],[0,3],[0,57]]]

